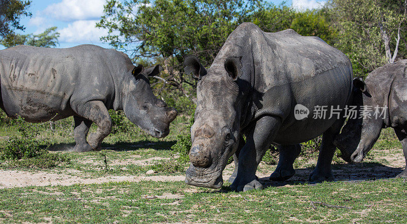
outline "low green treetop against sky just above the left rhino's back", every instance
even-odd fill
[[[30,45],[36,47],[56,47],[60,33],[56,31],[56,26],[47,28],[43,33],[39,35],[28,34],[9,34],[0,42],[5,47],[13,47],[16,45]]]

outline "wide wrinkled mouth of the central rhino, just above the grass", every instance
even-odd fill
[[[185,183],[192,186],[220,188],[223,185],[222,171],[216,170],[208,173],[210,168],[194,167],[192,164],[185,172]]]

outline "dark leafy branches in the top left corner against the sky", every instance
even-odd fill
[[[22,16],[32,16],[28,12],[31,1],[0,0],[0,40],[13,33],[13,30],[24,30],[20,24]]]

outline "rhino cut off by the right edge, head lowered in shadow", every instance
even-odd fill
[[[369,116],[348,119],[334,144],[341,150],[342,158],[359,163],[373,147],[383,128],[393,127],[403,146],[407,164],[407,59],[387,64],[369,73],[365,82],[354,81],[352,105],[371,107]],[[374,115],[375,107],[384,108],[385,116]],[[380,112],[383,109],[379,110]],[[407,169],[397,177],[407,177]]]

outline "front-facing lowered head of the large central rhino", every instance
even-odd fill
[[[194,56],[184,60],[185,72],[197,83],[195,122],[191,126],[190,167],[185,182],[219,188],[228,158],[237,150],[240,137],[242,91],[238,84],[241,62],[227,58],[207,71]]]

